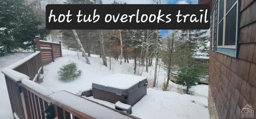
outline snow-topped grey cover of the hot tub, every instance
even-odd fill
[[[128,74],[113,74],[105,76],[98,80],[92,81],[92,88],[105,90],[108,92],[126,95],[136,88],[139,88],[140,83],[146,84],[147,78],[144,76],[134,76]]]

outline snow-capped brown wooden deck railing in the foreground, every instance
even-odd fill
[[[52,92],[34,82],[43,69],[40,55],[36,51],[2,70],[14,118],[45,119],[44,110],[52,105],[55,119],[138,119],[66,91]]]

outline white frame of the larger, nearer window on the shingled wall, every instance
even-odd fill
[[[217,48],[230,48],[230,49],[236,49],[236,46],[237,46],[237,36],[238,36],[238,0],[236,0],[236,2],[233,4],[233,6],[230,8],[230,10],[226,13],[226,2],[227,0],[224,0],[224,14],[223,14],[223,36],[222,36],[222,45],[218,45],[218,31],[219,31],[219,24],[222,20],[219,20],[219,14],[220,14],[220,0],[218,0],[218,22],[217,22],[217,25],[218,25],[218,29],[217,29],[217,43],[216,43],[216,46]],[[234,8],[234,6],[236,6],[236,45],[225,45],[225,31],[226,31],[226,16],[228,15],[228,13]]]

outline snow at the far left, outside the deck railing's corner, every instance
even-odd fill
[[[4,57],[0,57],[0,71],[2,71],[6,66],[9,66],[31,54],[32,53],[14,53],[13,55],[7,54]],[[2,72],[0,72],[0,119],[13,119],[6,82]]]

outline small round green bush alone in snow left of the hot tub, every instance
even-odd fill
[[[63,82],[70,82],[75,78],[81,76],[82,71],[78,70],[78,66],[75,62],[68,61],[68,64],[63,65],[58,70],[59,80]]]

